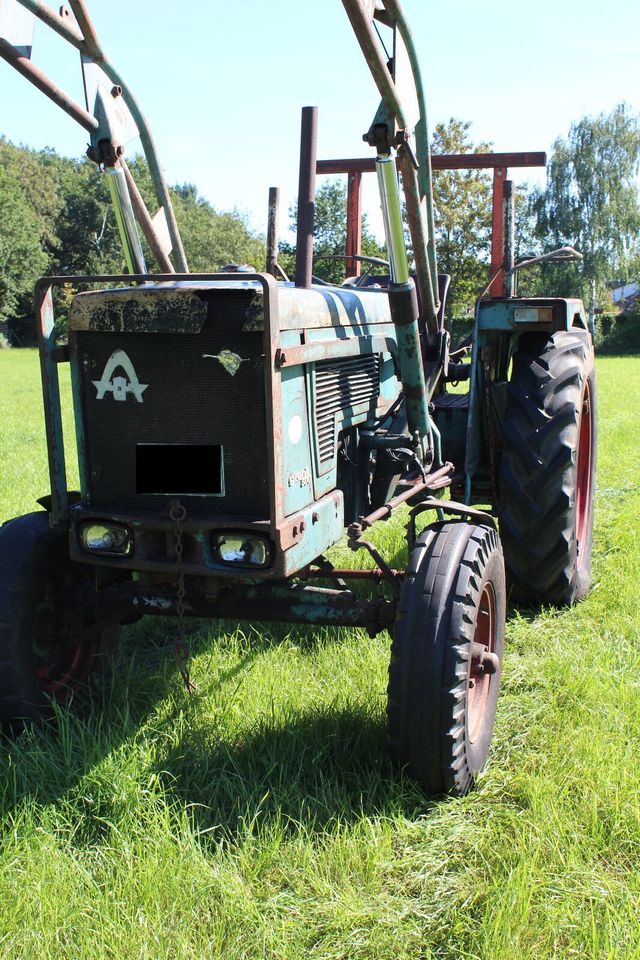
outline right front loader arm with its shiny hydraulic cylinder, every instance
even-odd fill
[[[382,102],[364,135],[376,150],[380,203],[390,264],[389,306],[396,328],[409,434],[424,463],[433,462],[426,360],[438,343],[438,278],[426,112],[417,58],[398,0],[342,0]],[[378,30],[391,29],[393,54]],[[411,53],[409,53],[409,50]],[[416,144],[416,130],[419,145]],[[396,167],[397,161],[397,167]],[[398,184],[411,234],[416,284],[409,271]],[[436,373],[436,381],[439,372]]]

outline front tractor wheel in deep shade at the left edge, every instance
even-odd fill
[[[69,559],[46,513],[0,528],[0,725],[20,730],[86,687],[117,643],[119,624],[91,622],[93,570]]]

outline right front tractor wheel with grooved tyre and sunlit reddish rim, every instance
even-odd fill
[[[422,532],[393,631],[388,721],[394,765],[430,794],[467,793],[486,763],[505,605],[493,528],[456,521]]]

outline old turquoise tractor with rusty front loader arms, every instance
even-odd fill
[[[50,490],[40,511],[0,529],[0,720],[18,731],[47,717],[142,616],[176,618],[187,684],[185,618],[387,630],[392,762],[429,794],[462,795],[489,754],[507,594],[572,605],[589,589],[592,337],[579,300],[517,296],[520,270],[579,254],[516,262],[501,190],[490,284],[472,336],[451,344],[414,40],[399,0],[342,2],[381,97],[361,169],[378,180],[388,262],[360,274],[356,242],[340,285],[313,275],[315,108],[302,114],[294,280],[278,263],[275,191],[264,272],[190,273],[153,138],[83,0],[60,13],[41,0],[4,5],[0,54],[89,133],[128,273],[36,286]],[[35,20],[80,51],[86,106],[31,62]],[[155,217],[124,157],[132,127]],[[54,322],[62,284],[81,288],[68,340]],[[60,364],[71,370],[77,491]],[[406,569],[369,533],[400,507]],[[327,556],[345,534],[366,558],[354,569]]]

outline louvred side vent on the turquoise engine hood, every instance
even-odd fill
[[[321,465],[335,457],[336,415],[375,412],[380,395],[380,356],[368,354],[344,360],[322,360],[315,367],[314,416],[318,460]]]

